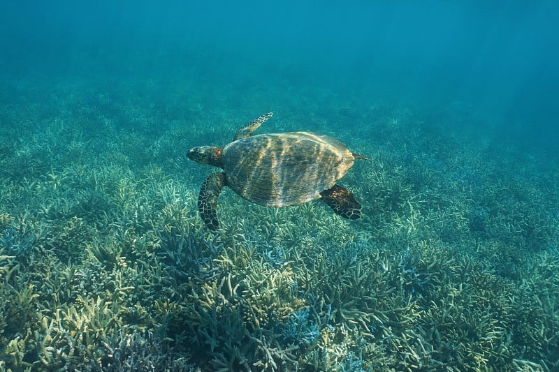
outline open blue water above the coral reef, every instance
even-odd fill
[[[262,87],[326,87],[341,100],[464,103],[537,146],[556,140],[556,10],[553,1],[3,1],[0,66],[8,86],[124,74],[219,81],[245,99]]]

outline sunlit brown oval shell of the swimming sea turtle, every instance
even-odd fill
[[[308,132],[254,135],[222,153],[227,186],[251,202],[286,207],[320,198],[354,163],[335,138]]]

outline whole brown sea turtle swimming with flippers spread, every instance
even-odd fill
[[[191,160],[224,170],[210,174],[200,190],[198,211],[205,225],[211,230],[219,226],[217,200],[224,186],[266,207],[321,199],[344,218],[361,217],[361,204],[336,181],[344,177],[356,158],[366,158],[327,135],[291,132],[252,136],[271,116],[272,112],[250,121],[225,147],[189,150]]]

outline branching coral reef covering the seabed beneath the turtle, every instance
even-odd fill
[[[459,117],[447,131],[413,107],[294,96],[270,130],[373,159],[344,179],[363,218],[224,191],[214,233],[185,151],[263,103],[80,84],[0,107],[0,370],[559,369],[556,159]]]

